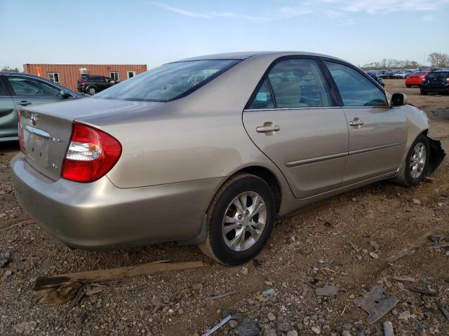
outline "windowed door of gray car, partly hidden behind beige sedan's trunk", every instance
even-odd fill
[[[6,76],[16,107],[60,102],[60,88],[28,76]]]

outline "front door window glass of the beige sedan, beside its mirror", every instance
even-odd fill
[[[344,106],[388,106],[384,92],[349,66],[325,61]]]

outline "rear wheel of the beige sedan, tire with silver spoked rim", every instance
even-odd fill
[[[213,198],[207,212],[207,237],[199,248],[225,265],[241,265],[254,258],[273,230],[275,202],[267,182],[236,174]]]

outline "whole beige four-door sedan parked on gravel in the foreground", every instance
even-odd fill
[[[420,183],[444,151],[422,111],[326,55],[164,64],[76,102],[20,111],[23,209],[80,248],[180,241],[241,264],[276,216],[383,179]]]

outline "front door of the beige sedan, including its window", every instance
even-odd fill
[[[396,172],[405,151],[407,125],[401,107],[354,66],[326,60],[349,126],[349,155],[343,185]]]

